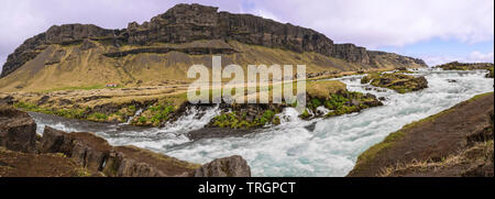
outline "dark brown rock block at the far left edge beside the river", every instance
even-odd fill
[[[0,146],[18,152],[34,152],[36,123],[23,111],[0,107]]]

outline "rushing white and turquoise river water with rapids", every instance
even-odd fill
[[[282,124],[242,137],[190,141],[185,134],[205,126],[219,114],[218,107],[194,108],[165,128],[135,128],[65,120],[31,113],[41,133],[44,125],[63,131],[96,132],[113,145],[136,145],[179,159],[208,163],[218,157],[243,156],[253,176],[345,176],[358,156],[405,124],[436,114],[475,95],[494,90],[486,71],[443,71],[420,69],[429,88],[399,95],[388,89],[361,85],[362,76],[339,78],[352,91],[385,97],[383,107],[330,119],[304,121],[288,108],[279,114]],[[324,111],[324,110],[323,110]],[[309,128],[311,126],[311,128]]]

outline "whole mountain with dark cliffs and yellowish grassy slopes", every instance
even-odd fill
[[[92,24],[54,25],[9,55],[0,90],[156,85],[186,81],[193,64],[306,64],[307,71],[426,67],[397,54],[334,44],[310,29],[218,8],[177,4],[150,22],[107,30]]]

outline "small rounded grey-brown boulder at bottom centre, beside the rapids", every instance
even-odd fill
[[[239,155],[218,158],[195,170],[195,177],[251,177],[248,162]]]

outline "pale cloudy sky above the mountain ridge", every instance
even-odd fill
[[[2,0],[0,65],[26,38],[52,25],[124,29],[177,3],[251,13],[309,27],[334,43],[447,62],[494,62],[493,0]]]

